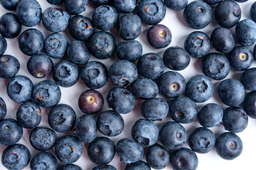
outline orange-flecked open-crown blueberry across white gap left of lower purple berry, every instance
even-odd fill
[[[34,87],[32,96],[39,106],[50,108],[60,102],[61,91],[55,82],[45,80]]]

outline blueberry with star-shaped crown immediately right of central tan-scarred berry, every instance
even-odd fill
[[[191,77],[186,84],[186,94],[193,101],[201,103],[213,96],[213,81],[204,75]]]

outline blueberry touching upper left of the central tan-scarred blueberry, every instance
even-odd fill
[[[139,74],[147,79],[157,79],[164,73],[164,62],[155,53],[146,53],[137,62]]]

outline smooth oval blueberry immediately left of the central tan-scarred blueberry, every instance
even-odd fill
[[[137,79],[131,87],[132,94],[142,99],[155,98],[159,92],[157,84],[151,79]]]

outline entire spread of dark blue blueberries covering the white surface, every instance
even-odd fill
[[[49,7],[42,12],[36,0],[0,0],[1,6],[16,11],[0,18],[0,77],[8,80],[9,98],[22,103],[16,120],[5,118],[6,103],[0,97],[0,144],[8,146],[1,154],[1,163],[6,169],[24,169],[30,162],[33,170],[57,170],[59,160],[65,164],[60,170],[81,170],[73,163],[82,155],[82,143],[89,143],[87,155],[97,164],[93,170],[115,169],[108,165],[115,153],[127,164],[125,170],[164,169],[169,162],[175,170],[196,169],[198,157],[195,152],[208,153],[213,147],[223,159],[235,159],[241,154],[242,140],[235,133],[245,130],[248,116],[256,118],[256,68],[249,68],[256,60],[256,47],[253,52],[247,47],[256,42],[256,2],[250,7],[251,19],[240,21],[241,9],[233,0],[192,1],[190,4],[187,0],[90,0],[89,3],[95,6],[91,19],[80,15],[85,11],[87,0],[46,1],[53,5],[63,3],[65,10]],[[142,31],[142,23],[151,25],[146,36],[152,47],[160,49],[171,43],[171,31],[159,24],[166,15],[166,8],[183,10],[183,20],[197,31],[186,37],[184,48],[169,47],[162,58],[155,53],[142,55],[141,43],[134,40]],[[213,17],[220,27],[215,28],[209,38],[198,29],[208,26]],[[21,33],[22,25],[33,27],[40,21],[53,32],[46,39],[36,28]],[[115,26],[116,36],[124,40],[118,45],[114,35],[106,31]],[[237,47],[229,30],[234,26],[235,40],[240,44]],[[66,29],[75,39],[73,42],[60,34]],[[5,38],[16,37],[21,52],[31,56],[26,65],[29,74],[38,79],[52,75],[54,81],[44,80],[34,86],[28,77],[16,76],[20,69],[18,60],[4,55]],[[209,52],[211,45],[218,52]],[[114,53],[119,60],[107,69],[103,62]],[[89,62],[90,55],[102,62]],[[50,59],[66,56],[68,60],[55,65]],[[176,71],[186,69],[191,57],[203,58],[201,70],[205,75],[196,75],[186,81]],[[173,71],[164,72],[165,66]],[[218,85],[220,101],[229,107],[223,111],[218,104],[208,103],[198,111],[196,103],[208,101],[213,96],[211,79],[224,79],[230,69],[243,73],[240,81],[225,79]],[[58,103],[61,98],[59,86],[68,88],[79,78],[89,89],[78,98],[78,106],[85,114],[77,118],[71,106]],[[112,110],[100,112],[104,97],[96,89],[105,86],[108,79],[115,85],[106,96]],[[245,89],[250,91],[246,96]],[[159,92],[172,100],[156,98]],[[123,138],[115,145],[110,137],[124,130],[121,114],[130,113],[139,98],[144,100],[140,106],[143,119],[132,126],[133,140]],[[50,128],[38,126],[41,107],[50,108]],[[159,129],[154,121],[161,121],[168,114],[172,121]],[[202,127],[188,136],[181,124],[192,123],[196,118]],[[220,124],[229,132],[215,139],[209,128]],[[31,129],[29,141],[40,151],[32,159],[26,146],[16,144],[23,136],[23,128]],[[57,137],[56,132],[74,129],[74,135]],[[104,137],[97,137],[97,132]],[[187,140],[191,149],[184,147]],[[47,152],[53,147],[55,155]],[[144,152],[146,162],[141,160]]]

